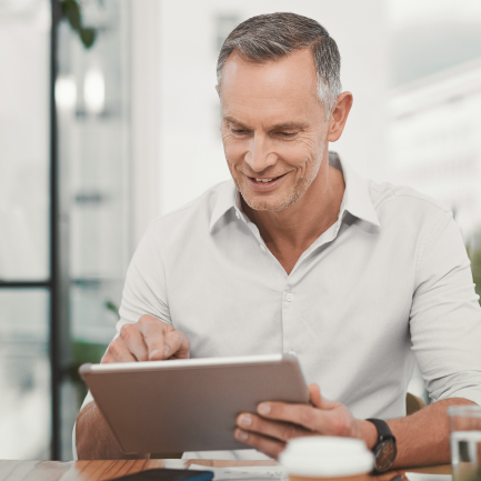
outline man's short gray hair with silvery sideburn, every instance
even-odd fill
[[[257,16],[236,27],[220,49],[217,62],[219,89],[223,66],[233,51],[248,60],[263,63],[303,48],[312,50],[318,97],[329,118],[342,91],[341,56],[335,41],[320,23],[297,13]]]

